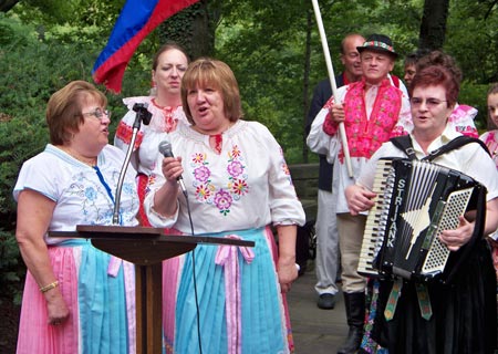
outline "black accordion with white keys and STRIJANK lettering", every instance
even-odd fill
[[[373,186],[377,196],[366,219],[359,273],[445,281],[465,247],[452,252],[438,236],[456,229],[458,217],[468,210],[480,210],[475,229],[483,228],[483,208],[477,208],[483,190],[471,177],[433,163],[380,159]]]

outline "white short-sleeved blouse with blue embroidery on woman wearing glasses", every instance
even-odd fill
[[[24,162],[13,196],[24,189],[35,190],[55,201],[50,231],[74,231],[76,225],[112,225],[114,200],[124,154],[106,145],[97,157],[97,171],[62,149],[48,144],[45,149]],[[121,196],[120,219],[123,226],[138,223],[136,171],[128,166]],[[44,236],[48,244],[63,239]]]

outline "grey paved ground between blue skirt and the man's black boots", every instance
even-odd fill
[[[319,309],[315,280],[313,262],[309,261],[288,294],[295,353],[335,354],[347,334],[344,301],[340,293],[333,310]]]

